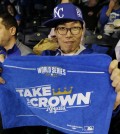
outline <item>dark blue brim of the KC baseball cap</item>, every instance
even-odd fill
[[[62,22],[65,22],[65,21],[80,21],[80,22],[83,22],[82,19],[79,19],[79,20],[76,20],[76,19],[71,19],[71,18],[59,18],[59,19],[50,19],[46,22],[43,23],[44,26],[47,26],[47,27],[50,27],[50,28],[53,28],[53,27],[56,27],[58,24],[62,23]]]

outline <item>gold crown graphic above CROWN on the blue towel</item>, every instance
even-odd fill
[[[64,87],[64,91],[60,91],[60,88],[58,88],[57,92],[55,92],[54,89],[52,89],[52,90],[53,90],[53,95],[65,95],[65,94],[71,94],[72,89],[73,89],[73,87],[71,86],[69,90],[67,90],[66,87]]]

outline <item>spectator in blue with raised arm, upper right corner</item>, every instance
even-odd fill
[[[113,33],[118,19],[120,19],[120,0],[110,0],[109,5],[104,6],[100,12],[101,32],[105,32],[107,35]]]

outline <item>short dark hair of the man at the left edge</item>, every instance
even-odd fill
[[[15,27],[16,28],[16,34],[15,36],[17,36],[17,31],[18,31],[18,24],[16,19],[10,15],[7,12],[2,12],[0,13],[0,18],[2,18],[2,24],[5,26],[6,29],[9,29],[11,27]]]

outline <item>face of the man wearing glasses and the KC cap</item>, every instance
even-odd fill
[[[61,29],[68,28],[69,30],[67,31],[66,34],[61,35],[58,31],[58,28]],[[72,34],[70,28],[73,28],[73,30],[74,28],[75,29],[79,28],[79,32],[77,32],[77,34]],[[82,25],[79,21],[77,22],[71,21],[58,25],[56,27],[55,33],[58,39],[58,45],[60,46],[60,49],[64,53],[66,54],[75,53],[80,48],[79,44],[82,35]]]

